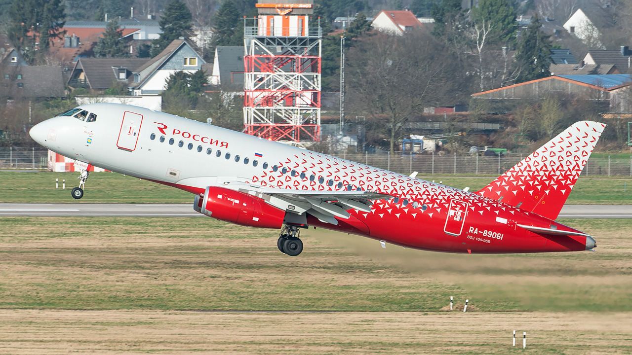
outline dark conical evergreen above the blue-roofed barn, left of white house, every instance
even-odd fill
[[[521,35],[516,52],[518,66],[516,82],[518,83],[550,76],[549,66],[552,54],[550,35],[542,32],[540,27],[540,20],[535,14],[531,24]]]

